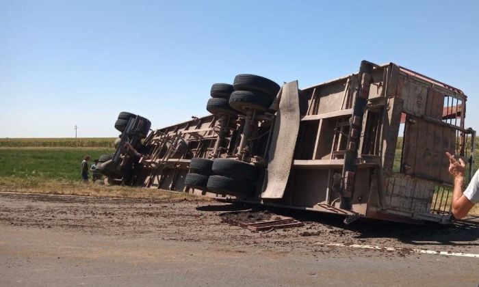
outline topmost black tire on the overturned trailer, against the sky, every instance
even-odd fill
[[[255,74],[238,74],[233,82],[233,90],[235,91],[261,92],[268,96],[270,100],[276,98],[280,88],[274,81]]]

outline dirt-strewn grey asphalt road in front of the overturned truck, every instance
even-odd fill
[[[389,224],[370,222],[344,230],[339,220],[324,217],[302,218],[306,223],[302,228],[255,234],[220,222],[220,215],[231,208],[241,209],[201,201],[1,194],[0,286],[479,283],[479,258],[410,251],[413,246],[479,254],[479,232],[474,226],[440,230],[439,236],[434,228],[394,225],[388,229]],[[372,230],[378,228],[385,231],[374,234]],[[401,230],[399,239],[396,229]],[[424,229],[427,232],[422,234]],[[326,241],[348,247],[318,244]],[[349,247],[353,244],[396,250]]]

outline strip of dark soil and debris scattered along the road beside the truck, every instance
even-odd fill
[[[242,210],[248,212],[235,213]],[[294,217],[305,226],[261,234],[222,222],[225,216],[257,221],[278,215]],[[479,226],[470,223],[411,226],[387,221],[357,221],[345,226],[343,219],[322,213],[205,201],[200,197],[148,200],[0,193],[0,224],[11,226],[76,230],[127,238],[148,236],[168,241],[200,241],[299,253],[313,251],[330,256],[376,256],[379,253],[404,256],[404,252],[349,249],[337,253],[335,248],[316,243],[426,249],[440,246],[446,251],[479,251]]]

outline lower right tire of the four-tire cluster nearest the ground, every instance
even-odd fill
[[[210,176],[207,188],[216,193],[237,197],[252,197],[255,195],[255,186],[253,184],[227,176]]]

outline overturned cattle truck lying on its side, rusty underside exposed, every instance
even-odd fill
[[[396,64],[299,89],[239,74],[204,118],[159,128],[120,113],[104,173],[122,184],[390,221],[451,221],[445,151],[474,172],[467,96]],[[145,138],[146,137],[146,138]],[[108,168],[107,168],[108,166]]]

